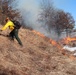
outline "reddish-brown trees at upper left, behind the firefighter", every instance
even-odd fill
[[[11,19],[21,18],[18,9],[14,8],[17,6],[17,4],[16,5],[14,4],[17,3],[16,0],[0,0],[0,2],[1,2],[0,7],[2,13],[2,18],[1,18],[2,21],[4,20],[5,17],[10,17]]]

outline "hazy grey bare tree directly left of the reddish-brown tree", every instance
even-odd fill
[[[39,21],[46,25],[49,31],[54,28],[55,16],[56,11],[53,6],[52,0],[42,0]]]

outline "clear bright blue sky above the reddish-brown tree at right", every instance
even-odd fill
[[[76,0],[53,0],[54,6],[71,13],[74,20],[76,20]]]

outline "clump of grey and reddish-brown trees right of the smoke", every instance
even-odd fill
[[[39,21],[48,27],[49,32],[54,30],[58,37],[64,30],[68,35],[68,30],[72,30],[75,25],[71,14],[55,9],[51,0],[42,0]]]

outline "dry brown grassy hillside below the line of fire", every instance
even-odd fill
[[[23,47],[6,34],[0,35],[0,75],[76,75],[76,60],[31,30],[20,29]]]

